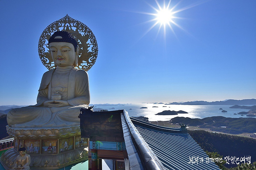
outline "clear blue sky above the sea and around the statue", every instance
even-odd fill
[[[176,25],[164,34],[160,23],[149,30],[156,16],[147,13],[159,9],[154,0],[0,0],[0,105],[36,104],[47,71],[39,37],[66,14],[97,39],[91,103],[256,98],[256,1],[172,0],[173,6]]]

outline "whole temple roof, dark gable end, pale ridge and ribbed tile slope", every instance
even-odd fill
[[[181,125],[180,128],[158,126],[129,117],[125,110],[106,112],[81,110],[81,112],[83,113],[80,114],[82,137],[107,141],[107,137],[101,136],[106,132],[109,133],[107,124],[116,124],[117,132],[122,129],[123,139],[115,137],[113,141],[124,142],[124,162],[127,169],[220,170],[188,134],[186,125]],[[107,115],[112,115],[113,123],[104,121],[109,117]],[[117,128],[119,127],[117,117],[121,118],[121,129]],[[100,122],[105,122],[106,125],[98,130],[95,123]],[[90,127],[93,128],[89,130]],[[113,135],[113,133],[110,134]]]

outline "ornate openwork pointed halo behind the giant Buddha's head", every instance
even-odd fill
[[[78,68],[88,71],[95,63],[98,55],[98,44],[90,28],[68,16],[48,25],[42,32],[38,42],[38,53],[43,65],[48,69],[54,68],[54,62],[48,46],[48,40],[56,31],[68,31],[76,39],[80,48]]]

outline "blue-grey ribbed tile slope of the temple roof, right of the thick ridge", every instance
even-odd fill
[[[180,132],[173,128],[167,131],[168,129],[166,127],[153,125],[135,118],[131,118],[131,120],[142,138],[167,169],[219,169],[213,162],[206,163],[209,156],[201,149],[196,141],[188,133],[184,133],[184,130],[181,128],[176,128],[180,129]],[[192,161],[195,163],[192,164],[189,162],[191,162],[190,159],[193,156],[196,158],[198,156],[199,159],[197,162],[193,159]],[[200,158],[203,159],[203,162],[200,161]]]

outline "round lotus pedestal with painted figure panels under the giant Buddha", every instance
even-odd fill
[[[81,138],[80,126],[6,129],[15,138],[14,148],[0,159],[6,170],[14,167],[20,147],[30,155],[30,169],[60,169],[88,159],[88,138]]]

